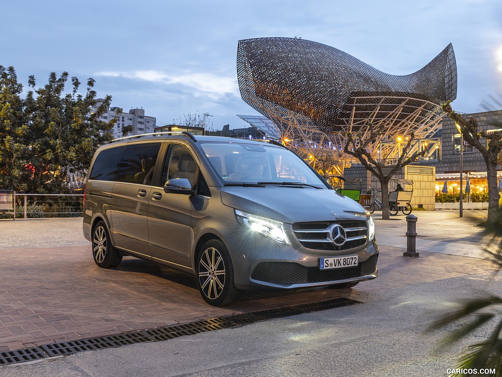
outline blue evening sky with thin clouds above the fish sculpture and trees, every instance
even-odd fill
[[[2,5],[0,65],[37,86],[50,72],[96,80],[112,106],[145,109],[157,125],[208,113],[214,129],[248,126],[237,42],[301,37],[390,74],[413,73],[453,44],[453,108],[473,113],[502,96],[499,0],[18,0]],[[495,106],[496,107],[496,106]],[[502,106],[496,107],[501,109]],[[495,109],[490,109],[495,110]]]

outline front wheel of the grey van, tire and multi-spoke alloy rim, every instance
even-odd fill
[[[225,306],[239,300],[241,292],[233,284],[233,266],[228,250],[220,240],[209,240],[196,262],[197,287],[204,301]]]

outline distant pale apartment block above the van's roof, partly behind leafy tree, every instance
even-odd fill
[[[103,99],[97,99],[96,107],[98,107],[103,101]],[[120,110],[120,108],[112,107],[99,118],[104,122],[109,122],[115,116],[118,116],[118,121],[112,129],[114,138],[122,137],[122,127],[127,126],[133,126],[133,132],[128,133],[126,136],[149,134],[154,132],[154,128],[156,127],[156,118],[146,116],[145,110],[131,109],[129,110],[129,113],[118,113],[118,110]]]

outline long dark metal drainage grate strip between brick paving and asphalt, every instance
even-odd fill
[[[297,314],[310,313],[319,310],[340,308],[361,304],[360,301],[338,298],[309,304],[299,304],[284,308],[262,310],[259,312],[236,314],[229,317],[211,318],[181,325],[159,327],[150,330],[103,336],[100,338],[74,340],[69,342],[46,344],[35,348],[17,351],[0,352],[0,365],[33,361],[46,357],[70,355],[76,352],[96,349],[121,347],[123,345],[156,342],[194,335],[207,331],[235,328],[250,323],[266,321],[275,318],[290,317]]]

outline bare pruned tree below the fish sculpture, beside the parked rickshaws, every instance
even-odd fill
[[[367,138],[363,138],[361,134],[356,133],[348,133],[347,134],[347,142],[345,143],[344,151],[346,154],[354,156],[357,158],[361,164],[371,173],[373,173],[376,178],[380,181],[380,185],[382,186],[382,219],[389,220],[389,182],[398,171],[415,161],[416,156],[408,156],[408,152],[412,146],[412,141],[414,140],[414,133],[410,135],[408,142],[403,147],[401,151],[401,155],[396,161],[395,165],[391,165],[392,168],[390,171],[385,169],[384,166],[389,166],[385,164],[385,158],[380,160],[376,160],[373,158],[370,152],[368,152],[367,148],[370,143],[374,143],[375,140],[381,139],[381,135],[385,131],[386,124],[382,123],[376,129],[372,124],[369,125],[369,136]]]

